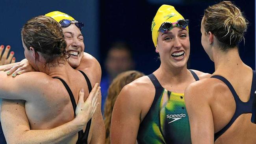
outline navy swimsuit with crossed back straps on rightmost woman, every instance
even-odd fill
[[[245,114],[245,113],[252,113],[252,118],[251,118],[251,122],[256,124],[256,119],[255,119],[255,110],[256,110],[256,96],[254,94],[254,92],[256,91],[256,71],[253,71],[253,75],[252,75],[252,87],[251,87],[251,92],[250,92],[250,98],[248,102],[242,102],[239,99],[239,96],[237,95],[235,89],[233,88],[233,86],[231,85],[231,83],[224,77],[222,76],[211,76],[211,78],[217,78],[221,81],[223,81],[228,88],[230,89],[230,91],[232,92],[235,102],[236,102],[236,111],[233,115],[233,117],[231,118],[230,122],[223,127],[223,129],[221,129],[220,131],[218,131],[217,133],[214,134],[214,141],[217,140],[217,138],[219,138],[233,123],[234,121],[241,115],[241,114]]]

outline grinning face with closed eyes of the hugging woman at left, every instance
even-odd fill
[[[72,68],[76,68],[80,65],[80,61],[83,57],[84,44],[83,35],[76,25],[71,24],[67,28],[63,28],[65,35],[65,41],[67,42],[66,50],[69,52],[69,65]]]

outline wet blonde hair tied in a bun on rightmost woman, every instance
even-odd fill
[[[217,37],[220,49],[226,51],[244,40],[248,21],[232,2],[223,1],[204,10],[202,24],[206,33],[211,31]]]

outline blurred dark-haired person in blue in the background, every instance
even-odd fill
[[[108,50],[105,62],[106,75],[102,77],[100,87],[102,94],[101,111],[104,113],[104,103],[108,87],[112,80],[121,72],[134,69],[134,61],[130,46],[126,42],[114,42]]]

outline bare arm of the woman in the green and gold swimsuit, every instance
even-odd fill
[[[126,85],[120,92],[111,118],[111,144],[135,144],[140,124],[141,107],[135,87]],[[138,90],[137,90],[138,91]]]

